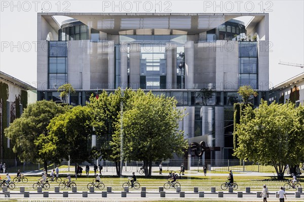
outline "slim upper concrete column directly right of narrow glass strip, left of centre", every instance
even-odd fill
[[[127,45],[121,45],[120,48],[121,57],[121,83],[120,87],[126,89],[128,87],[128,49]]]

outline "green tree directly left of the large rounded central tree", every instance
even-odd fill
[[[97,138],[101,142],[100,154],[103,159],[113,161],[116,165],[117,175],[121,175],[121,138],[116,130],[120,131],[120,113],[130,108],[129,100],[134,95],[131,89],[118,88],[114,93],[103,91],[98,99],[91,95],[87,107],[93,112],[93,125],[96,129]],[[118,132],[118,134],[120,134]],[[95,158],[100,156],[96,154]]]

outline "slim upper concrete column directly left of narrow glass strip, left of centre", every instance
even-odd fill
[[[108,88],[115,89],[115,57],[114,57],[114,41],[108,43]]]

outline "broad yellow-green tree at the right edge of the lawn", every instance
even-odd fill
[[[234,155],[240,159],[272,165],[282,178],[287,164],[293,166],[304,160],[304,107],[294,104],[258,108],[247,106],[237,124],[238,147]]]

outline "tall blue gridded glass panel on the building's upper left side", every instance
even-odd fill
[[[67,83],[67,42],[49,41],[48,88]]]

